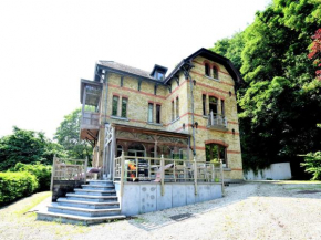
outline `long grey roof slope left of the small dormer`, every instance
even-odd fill
[[[148,72],[148,71],[136,69],[136,67],[133,67],[133,66],[128,66],[128,65],[125,65],[125,64],[122,64],[122,63],[117,63],[117,62],[114,62],[114,61],[100,60],[97,62],[97,64],[102,65],[102,66],[106,66],[106,67],[113,69],[113,70],[118,70],[121,72],[125,72],[125,73],[134,74],[134,75],[137,75],[137,76],[146,77],[146,79],[149,79],[149,80],[155,80],[154,77],[152,77],[149,75],[151,72]]]

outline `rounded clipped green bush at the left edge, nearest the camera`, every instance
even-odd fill
[[[0,173],[0,206],[29,196],[37,188],[37,177],[30,173]]]

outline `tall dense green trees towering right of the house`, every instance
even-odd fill
[[[319,0],[275,0],[244,32],[211,49],[246,81],[238,90],[245,170],[290,161],[292,174],[301,174],[298,155],[320,149],[321,83],[315,55],[307,56],[311,36],[319,39],[320,13]]]

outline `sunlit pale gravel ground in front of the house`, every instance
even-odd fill
[[[248,182],[226,197],[91,227],[35,221],[32,199],[0,209],[0,239],[321,239],[321,185]]]

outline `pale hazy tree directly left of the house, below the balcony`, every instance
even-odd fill
[[[64,147],[69,158],[92,158],[93,148],[85,140],[80,139],[81,108],[64,116],[63,122],[56,128],[54,139]]]

